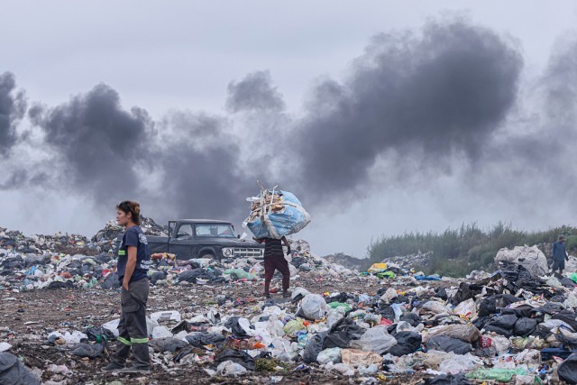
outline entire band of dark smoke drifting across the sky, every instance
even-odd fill
[[[228,115],[175,111],[154,122],[98,85],[55,107],[34,105],[28,116],[51,151],[53,185],[106,210],[131,198],[160,220],[238,222],[257,179],[293,190],[315,211],[310,206],[374,188],[374,174],[388,169],[417,178],[471,169],[456,178],[475,188],[551,174],[568,163],[567,142],[576,136],[577,44],[563,43],[552,56],[532,101],[538,117],[523,115],[522,69],[508,38],[467,20],[437,20],[373,38],[342,81],[312,87],[296,117],[268,71],[229,84]],[[5,157],[26,109],[14,89],[14,76],[2,75]],[[408,183],[403,172],[389,175],[391,184]],[[25,179],[23,171],[5,180]]]

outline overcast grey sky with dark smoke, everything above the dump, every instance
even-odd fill
[[[124,199],[240,225],[257,180],[318,254],[574,225],[574,25],[572,1],[6,2],[0,226],[91,236]]]

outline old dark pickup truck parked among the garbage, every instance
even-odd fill
[[[169,236],[147,235],[149,251],[170,252],[179,260],[191,258],[263,258],[264,245],[234,235],[234,225],[212,219],[169,221]]]

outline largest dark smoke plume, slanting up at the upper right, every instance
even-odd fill
[[[343,197],[388,153],[433,168],[453,155],[478,160],[516,101],[521,68],[514,47],[464,21],[375,37],[343,84],[316,87],[295,146],[301,185]]]

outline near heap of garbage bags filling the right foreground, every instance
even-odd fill
[[[250,265],[236,262],[241,271],[243,263]],[[239,307],[222,294],[194,313],[153,312],[153,360],[167,371],[199,366],[215,378],[270,370],[280,377],[337,373],[366,384],[416,372],[427,383],[577,380],[572,280],[537,277],[504,261],[479,281],[443,278],[429,282],[435,287],[397,288],[388,278],[382,281],[387,284],[374,293],[351,288],[318,294],[296,287],[287,301],[263,298],[258,306]],[[55,330],[45,338],[73,356],[97,358],[117,336],[118,321]]]

